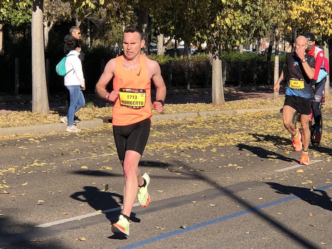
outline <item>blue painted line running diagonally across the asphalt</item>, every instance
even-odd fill
[[[332,184],[329,184],[329,185],[320,187],[317,190],[324,190],[324,189],[331,188],[331,187],[332,187]],[[117,249],[136,248],[138,246],[150,244],[152,242],[155,242],[155,241],[158,241],[158,240],[161,240],[161,239],[165,239],[165,238],[168,238],[168,237],[180,234],[180,233],[185,233],[185,232],[197,229],[197,228],[212,225],[214,223],[218,223],[218,222],[221,222],[221,221],[224,221],[224,220],[227,220],[227,219],[235,218],[235,217],[238,217],[238,216],[246,214],[246,213],[251,213],[253,211],[256,211],[256,210],[259,210],[259,209],[262,209],[262,208],[265,208],[265,207],[270,207],[270,206],[280,204],[280,203],[283,203],[283,202],[287,202],[287,201],[290,201],[290,200],[293,200],[293,199],[296,199],[296,198],[298,198],[298,197],[297,196],[289,196],[289,197],[279,199],[279,200],[276,200],[276,201],[273,201],[273,202],[265,203],[265,204],[260,205],[260,206],[248,208],[248,209],[240,211],[240,212],[236,212],[236,213],[232,213],[232,214],[222,216],[222,217],[219,217],[219,218],[215,218],[215,219],[212,219],[212,220],[204,221],[204,222],[201,222],[199,224],[186,227],[185,229],[178,229],[178,230],[168,232],[168,233],[164,233],[164,234],[161,234],[161,235],[149,238],[149,239],[144,239],[144,240],[141,240],[141,241],[138,241],[138,242],[135,242],[135,243],[123,246],[123,247],[118,247]]]

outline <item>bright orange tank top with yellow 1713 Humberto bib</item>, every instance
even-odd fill
[[[113,89],[119,96],[113,105],[113,125],[135,124],[152,117],[151,80],[146,74],[146,56],[140,55],[139,67],[126,70],[123,56],[116,58]]]

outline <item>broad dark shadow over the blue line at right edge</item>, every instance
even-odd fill
[[[278,194],[295,195],[310,205],[332,211],[331,198],[323,190],[314,189],[313,191],[310,191],[308,188],[285,186],[274,182],[267,182],[266,184],[275,189]]]

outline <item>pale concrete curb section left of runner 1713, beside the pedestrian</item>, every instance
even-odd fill
[[[80,123],[77,124],[78,128],[96,128],[98,126],[103,126],[103,120],[101,119],[86,120],[86,121],[81,121]],[[25,133],[37,134],[49,131],[65,131],[66,128],[67,125],[62,123],[8,127],[8,128],[0,128],[0,136],[25,134]]]

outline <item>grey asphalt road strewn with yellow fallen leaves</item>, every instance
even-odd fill
[[[276,112],[154,122],[151,203],[128,237],[110,229],[124,184],[110,124],[2,139],[0,248],[331,248],[331,110],[309,166]]]

